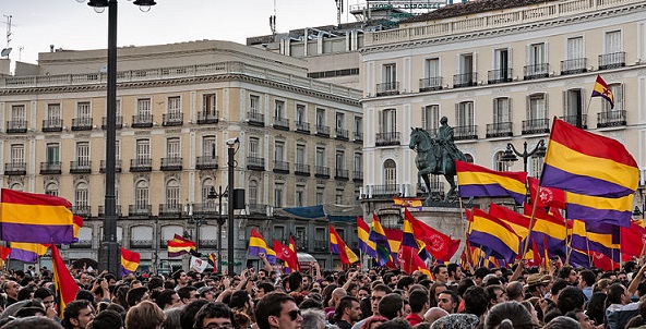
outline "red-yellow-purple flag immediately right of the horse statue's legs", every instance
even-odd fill
[[[527,172],[495,171],[455,161],[460,197],[511,196],[518,205],[525,202]]]

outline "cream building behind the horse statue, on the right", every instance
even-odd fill
[[[492,10],[495,8],[495,10]],[[435,133],[441,117],[469,160],[497,170],[507,144],[523,153],[549,138],[554,117],[624,143],[646,163],[646,2],[483,0],[447,5],[399,28],[364,36],[366,139],[361,198],[426,195],[410,129]],[[591,98],[597,75],[614,108]],[[538,176],[542,158],[527,159]],[[443,180],[433,192],[447,190]],[[642,179],[643,180],[643,179]],[[644,182],[642,182],[644,185]],[[635,198],[643,205],[643,195]]]

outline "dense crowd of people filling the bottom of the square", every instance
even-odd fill
[[[235,276],[73,270],[80,290],[64,307],[51,271],[16,270],[0,276],[0,329],[646,328],[645,270],[633,261],[617,271],[440,264],[430,276],[316,263],[285,275],[267,261]]]

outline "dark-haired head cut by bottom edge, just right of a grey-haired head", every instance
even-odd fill
[[[518,302],[498,304],[489,310],[484,319],[484,329],[534,329],[531,315]]]

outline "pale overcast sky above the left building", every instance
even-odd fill
[[[81,2],[80,2],[81,1]],[[117,46],[147,46],[215,39],[246,44],[247,37],[271,34],[270,15],[276,9],[276,29],[334,25],[335,0],[156,0],[147,13],[131,1],[118,2]],[[345,5],[364,3],[345,0]],[[37,63],[38,52],[56,49],[106,49],[108,11],[95,13],[84,0],[0,0],[0,48],[7,48],[11,19],[12,61]],[[346,10],[342,23],[355,22]],[[22,48],[22,50],[21,50]]]

